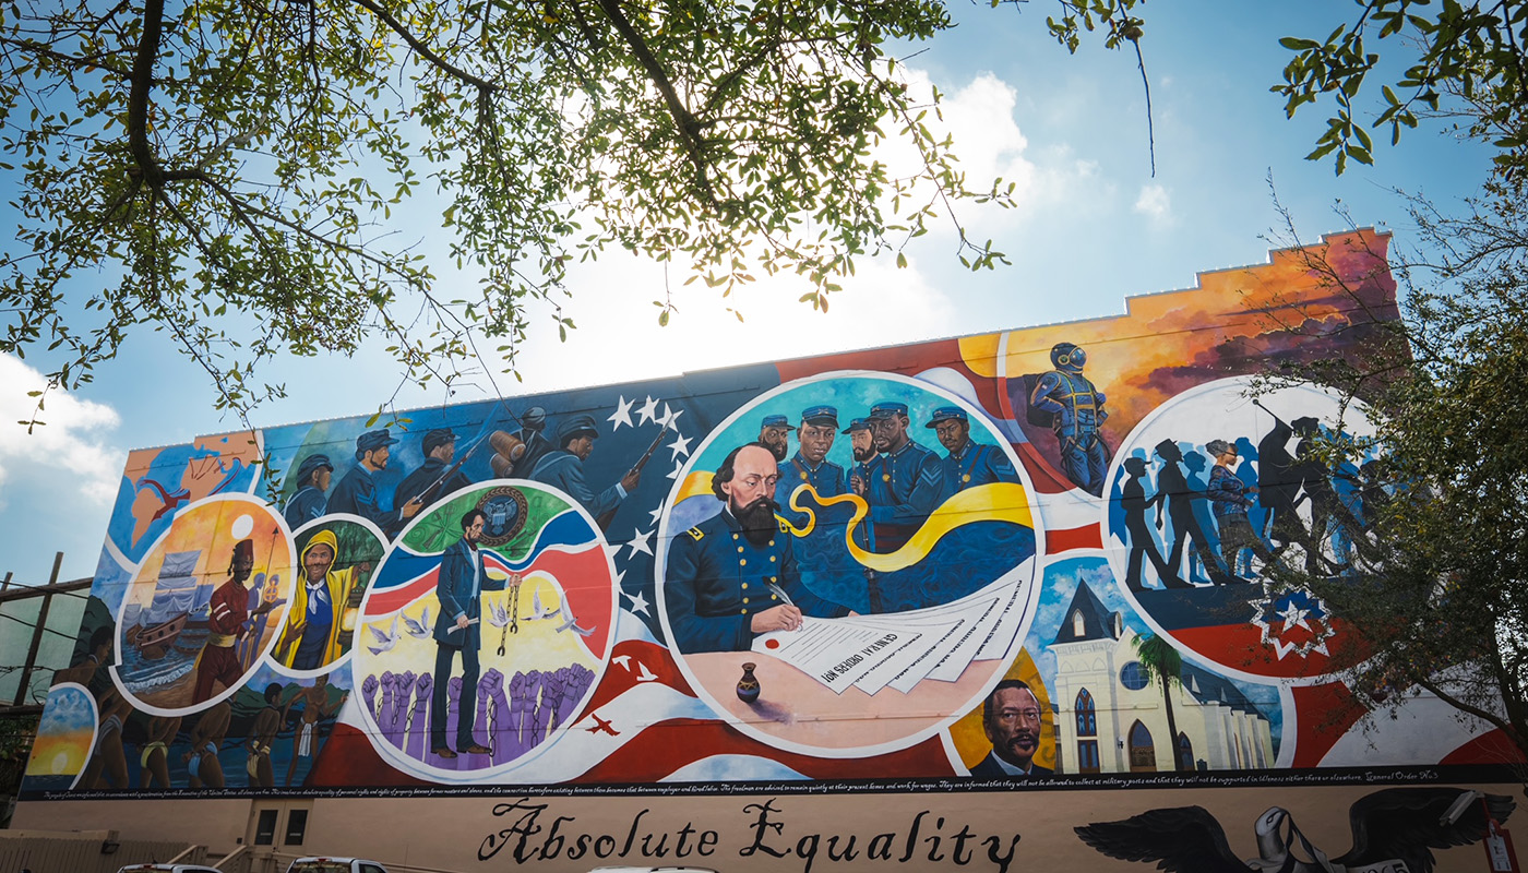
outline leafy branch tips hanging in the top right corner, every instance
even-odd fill
[[[1499,170],[1516,173],[1528,162],[1528,6],[1507,0],[1357,0],[1355,6],[1357,15],[1325,38],[1280,40],[1293,52],[1284,83],[1273,87],[1285,98],[1285,112],[1293,118],[1308,102],[1335,104],[1309,159],[1331,156],[1337,173],[1349,159],[1372,164],[1369,130],[1387,130],[1395,144],[1420,116],[1459,112],[1471,136],[1496,145]],[[1381,99],[1366,112],[1358,98],[1381,69],[1375,44],[1384,40],[1407,60],[1400,75],[1380,84]],[[1450,105],[1450,98],[1458,102]]]

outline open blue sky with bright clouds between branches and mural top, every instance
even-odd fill
[[[523,385],[480,378],[451,401],[492,396],[495,382],[515,394],[1114,315],[1129,295],[1192,287],[1196,272],[1265,261],[1265,237],[1282,231],[1270,177],[1303,239],[1345,229],[1340,203],[1355,223],[1387,228],[1406,248],[1415,232],[1390,190],[1423,191],[1447,206],[1476,193],[1490,153],[1424,122],[1395,148],[1377,135],[1386,144],[1377,142],[1375,168],[1335,177],[1331,164],[1303,161],[1328,107],[1306,105],[1285,119],[1268,92],[1288,54],[1277,40],[1323,37],[1354,9],[1329,0],[1144,6],[1152,177],[1134,54],[1106,52],[1096,40],[1070,57],[1045,34],[1050,5],[990,9],[955,0],[958,28],[906,64],[915,81],[946,95],[946,121],[972,183],[993,173],[1018,182],[1015,209],[960,209],[967,232],[993,239],[1013,266],[964,272],[946,223],[908,251],[909,269],[891,258],[860,263],[828,315],[796,303],[805,289],[785,280],[723,301],[671,272],[678,313],[659,329],[651,301],[663,294],[663,269],[610,254],[570,275],[575,297],[564,313],[579,329],[567,342],[555,329],[535,336],[521,350]],[[434,223],[422,222],[417,232],[429,234]],[[446,286],[472,281],[440,272]],[[552,327],[550,315],[538,318]],[[49,425],[26,434],[12,422],[29,417],[26,391],[40,387],[46,361],[41,353],[24,362],[0,356],[0,575],[14,572],[23,583],[46,581],[57,550],[66,553],[64,578],[93,572],[127,449],[235,427],[212,410],[206,378],[163,336],[145,332],[93,384],[50,398]],[[351,359],[283,361],[270,375],[290,396],[261,407],[257,427],[365,414],[399,387],[380,344]],[[439,388],[403,388],[396,398],[403,408],[448,401]]]

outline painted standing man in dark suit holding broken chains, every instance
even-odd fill
[[[440,557],[440,575],[435,581],[435,596],[440,599],[440,616],[435,619],[435,685],[429,702],[429,751],[442,758],[454,758],[457,752],[446,745],[448,686],[451,685],[451,662],[461,653],[461,700],[457,712],[457,749],[465,755],[486,755],[489,748],[472,737],[472,720],[477,717],[477,680],[481,667],[478,648],[483,631],[478,618],[483,615],[480,595],[501,592],[504,586],[518,586],[520,575],[507,579],[490,579],[478,552],[483,537],[484,515],[472,509],[461,517],[461,538],[452,543]]]

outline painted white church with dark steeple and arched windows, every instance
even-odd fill
[[[1161,685],[1135,657],[1135,633],[1105,609],[1088,584],[1062,616],[1050,651],[1056,656],[1056,772],[1115,774],[1183,769],[1265,769],[1274,763],[1267,714],[1224,677],[1183,664],[1174,683],[1170,738]]]

